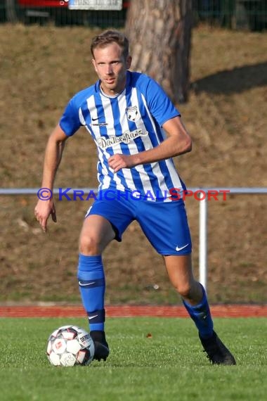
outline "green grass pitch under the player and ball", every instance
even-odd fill
[[[214,319],[237,366],[212,366],[190,319],[110,318],[110,357],[89,367],[52,367],[50,333],[84,319],[1,319],[2,401],[265,400],[267,319]]]

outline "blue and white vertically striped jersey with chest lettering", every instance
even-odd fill
[[[115,153],[133,155],[155,148],[164,140],[164,122],[180,115],[157,82],[139,72],[126,74],[126,87],[117,96],[103,94],[99,80],[79,91],[67,104],[60,127],[72,136],[84,125],[93,136],[99,190],[138,191],[151,194],[148,200],[169,201],[169,189],[185,189],[171,158],[117,173],[108,165]]]

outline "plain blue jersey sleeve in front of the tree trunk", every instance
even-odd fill
[[[181,115],[162,87],[154,79],[149,79],[145,97],[150,113],[161,127],[164,122]]]

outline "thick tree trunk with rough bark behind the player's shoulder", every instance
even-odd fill
[[[134,0],[126,18],[133,70],[162,85],[174,103],[188,98],[192,0]]]

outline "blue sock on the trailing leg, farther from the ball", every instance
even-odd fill
[[[211,312],[209,310],[209,303],[207,300],[207,294],[202,286],[203,297],[198,305],[190,305],[183,300],[185,309],[190,314],[190,317],[195,322],[198,331],[200,332],[201,338],[209,338],[213,333],[213,322],[211,319]]]

